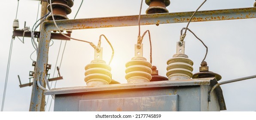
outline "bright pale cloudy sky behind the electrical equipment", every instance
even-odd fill
[[[75,0],[72,13],[68,15],[72,19],[82,0]],[[171,0],[171,5],[167,7],[169,12],[195,11],[204,0]],[[199,9],[234,9],[253,7],[255,0],[207,0]],[[33,27],[37,20],[38,1],[20,0],[18,8],[19,29],[27,26]],[[124,15],[138,15],[140,0],[84,0],[82,7],[76,18],[99,18]],[[12,38],[12,22],[15,19],[17,0],[8,0],[0,8],[1,36],[0,44],[0,103],[2,103],[3,89],[8,63],[9,47]],[[40,6],[41,8],[41,6]],[[142,14],[145,14],[148,6],[144,3]],[[39,13],[40,14],[40,13]],[[150,30],[152,39],[152,64],[157,66],[159,74],[165,76],[166,62],[176,52],[176,42],[180,37],[181,28],[186,27],[186,23],[180,24],[160,24],[141,26],[141,33]],[[256,19],[242,19],[229,21],[209,21],[191,23],[189,28],[204,41],[209,51],[205,61],[209,70],[222,75],[221,81],[256,74],[256,54],[255,54],[255,28]],[[115,56],[111,63],[113,79],[121,83],[125,80],[125,63],[134,57],[134,44],[137,42],[138,27],[115,27],[98,28],[88,30],[73,30],[72,37],[85,39],[97,44],[98,37],[104,34],[112,43],[115,49]],[[20,37],[22,38],[22,37]],[[185,53],[194,62],[194,71],[199,71],[201,60],[205,54],[205,48],[191,33],[186,36]],[[54,66],[58,55],[61,41],[54,40],[54,44],[49,51],[49,64],[52,69],[49,73],[53,78]],[[143,39],[144,57],[149,61],[149,39]],[[103,59],[108,63],[111,56],[111,49],[107,42],[103,40]],[[61,44],[61,53],[64,48],[64,41]],[[17,75],[21,78],[21,83],[29,82],[29,71],[33,71],[30,54],[34,51],[30,38],[24,38],[24,44],[15,38],[12,49],[12,58],[9,69],[9,81],[7,84],[4,111],[28,111],[32,87],[19,88]],[[32,55],[36,60],[36,54]],[[58,59],[57,66],[60,64]],[[57,82],[56,87],[76,87],[85,86],[84,67],[94,59],[94,50],[84,42],[68,41],[64,57],[61,63],[60,73],[64,80]],[[56,77],[57,72],[55,73]],[[55,82],[54,82],[55,83]],[[226,102],[227,111],[256,111],[256,79],[241,81],[237,83],[222,85],[222,90]],[[47,99],[47,96],[46,96]],[[49,99],[50,102],[50,99]],[[53,104],[53,103],[52,103]],[[47,105],[46,111],[49,109]],[[50,108],[53,111],[53,105]]]

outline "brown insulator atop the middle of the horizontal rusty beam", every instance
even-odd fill
[[[169,12],[166,9],[166,6],[170,5],[170,0],[145,0],[146,4],[149,6],[146,9],[146,14],[154,14],[154,13],[167,13]]]

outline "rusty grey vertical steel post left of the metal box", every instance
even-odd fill
[[[37,81],[40,81],[40,84],[45,83],[44,76],[46,74],[46,65],[48,60],[50,37],[51,37],[51,31],[46,29],[46,25],[44,22],[41,28],[40,41],[39,41],[38,53],[37,53],[37,64],[36,64],[35,76],[33,81],[29,111],[40,111],[40,108],[41,108],[43,90],[37,86]],[[43,75],[41,75],[41,72]]]

